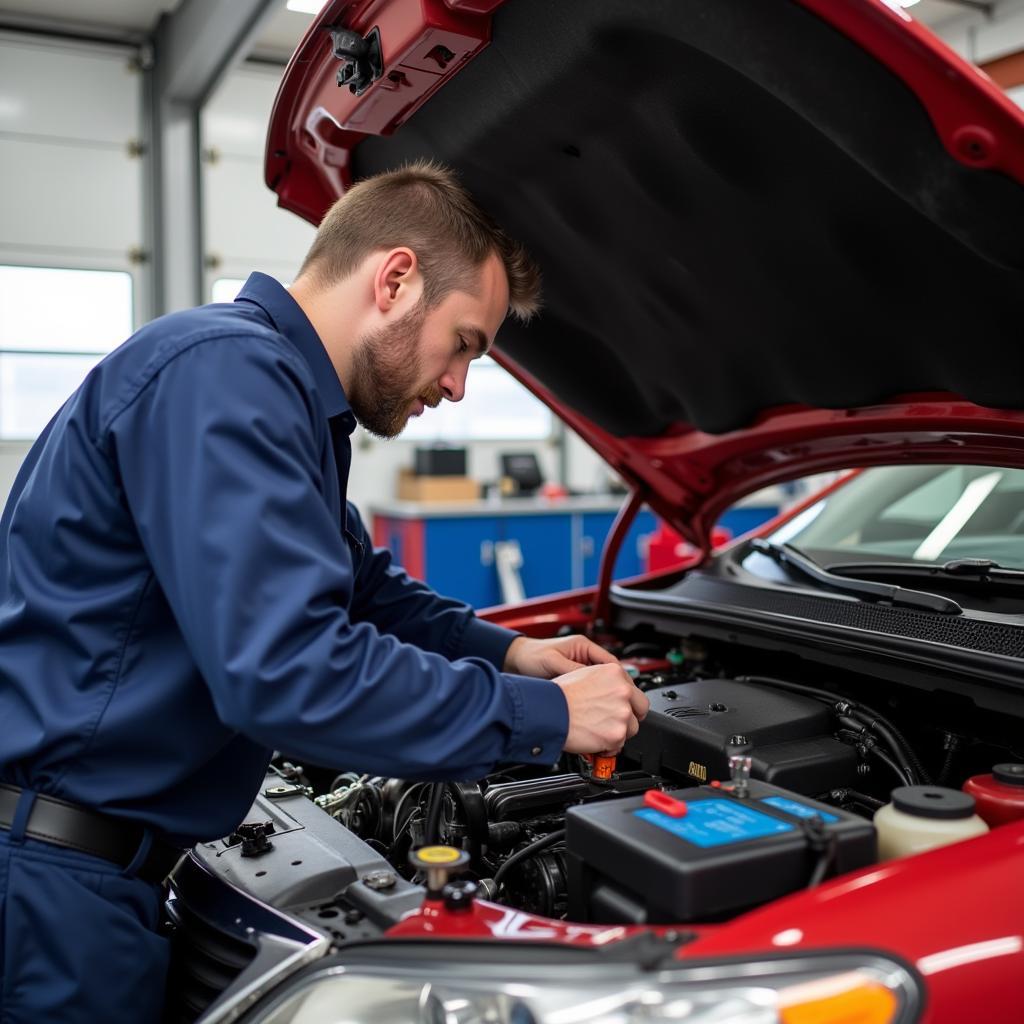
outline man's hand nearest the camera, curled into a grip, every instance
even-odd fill
[[[554,683],[569,709],[569,754],[617,754],[650,707],[618,664],[577,669]]]

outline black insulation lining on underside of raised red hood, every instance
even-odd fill
[[[956,159],[941,100],[927,108],[912,74],[810,6],[507,0],[488,46],[351,153],[352,178],[452,165],[526,244],[545,306],[502,329],[500,354],[655,506],[692,514],[720,494],[716,436],[731,444],[779,409],[898,419],[893,396],[927,392],[1024,410],[1024,187]],[[1001,118],[1000,137],[956,136],[975,164],[993,164],[985,146],[1020,148],[1024,121],[941,46],[873,0],[835,7],[882,26],[890,65],[945,61],[962,128]],[[1020,436],[1024,417],[992,430]],[[697,434],[703,483],[671,465]]]

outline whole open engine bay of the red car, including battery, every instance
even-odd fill
[[[894,790],[944,805],[963,786],[980,811],[994,786],[987,820],[1024,817],[1020,715],[967,686],[925,697],[891,669],[837,671],[735,638],[636,630],[604,645],[650,701],[613,759],[563,754],[550,768],[430,782],[275,757],[246,820],[197,845],[172,880],[180,1019],[294,948],[254,942],[254,927],[340,950],[379,940],[430,895],[449,912],[506,908],[496,937],[552,934],[546,920],[660,925],[686,942],[680,928],[902,855],[886,852],[881,827]],[[995,766],[1001,782],[980,774]],[[432,891],[421,853],[437,849],[455,869]]]

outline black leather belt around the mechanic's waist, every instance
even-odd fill
[[[0,828],[10,828],[20,796],[22,791],[16,785],[0,782]],[[144,829],[131,821],[119,821],[40,793],[32,805],[25,835],[67,850],[102,857],[124,868],[138,853]],[[134,873],[145,882],[163,882],[183,852],[154,839],[150,852]]]

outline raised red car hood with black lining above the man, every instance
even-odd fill
[[[694,543],[801,474],[1024,466],[1024,112],[895,3],[333,0],[267,184],[315,223],[423,157],[544,269],[496,358]]]

